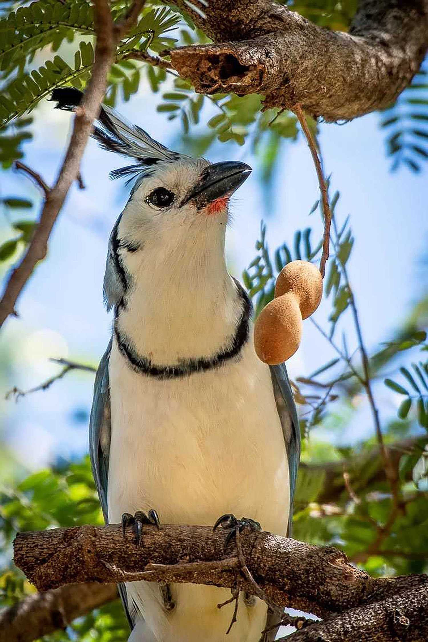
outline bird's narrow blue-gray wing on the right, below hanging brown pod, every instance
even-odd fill
[[[297,469],[300,460],[300,428],[297,416],[295,398],[291,390],[285,363],[270,367],[273,383],[273,394],[277,403],[284,441],[286,442],[289,477],[290,477],[290,512],[288,519],[288,532],[291,536],[291,523],[293,521],[293,499],[296,490]]]

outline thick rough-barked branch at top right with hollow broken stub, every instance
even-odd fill
[[[259,92],[266,107],[300,104],[326,121],[386,107],[428,47],[427,0],[361,0],[349,33],[320,28],[273,0],[210,0],[205,18],[184,0],[176,4],[214,40],[169,52],[196,91]]]

